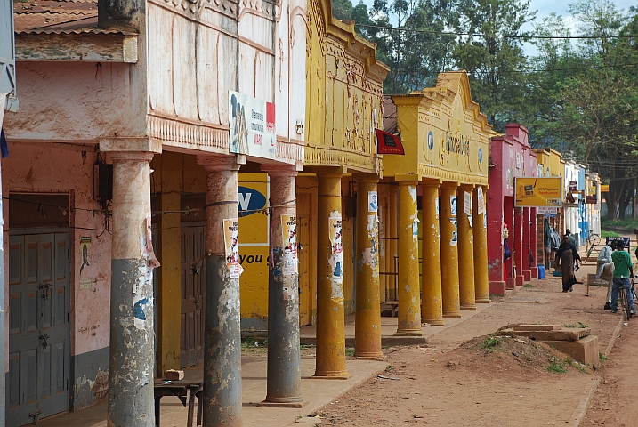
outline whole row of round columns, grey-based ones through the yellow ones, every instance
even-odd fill
[[[109,426],[154,425],[152,248],[149,241],[151,153],[113,152],[113,262]],[[224,220],[238,218],[238,157],[199,156],[206,169],[206,319],[203,425],[242,424],[239,279],[228,268]],[[268,368],[265,402],[302,400],[299,354],[298,273],[287,257],[282,217],[296,214],[292,169],[262,165],[271,179],[271,265],[269,274]],[[315,378],[347,378],[343,310],[342,173],[318,173],[317,357]],[[380,359],[378,217],[367,193],[375,176],[356,176],[358,221],[355,356]],[[484,214],[458,214],[442,200],[456,196],[456,184],[424,183],[423,297],[418,282],[418,218],[414,176],[399,181],[399,313],[397,334],[421,334],[422,313],[432,325],[460,317],[461,309],[489,302]],[[472,191],[476,206],[476,191]],[[476,211],[476,207],[474,207]],[[458,222],[458,229],[456,228]],[[439,227],[440,224],[440,227]],[[138,230],[139,232],[135,232]],[[458,243],[458,247],[456,246]],[[440,256],[439,256],[440,251]],[[150,252],[150,254],[149,254]],[[476,256],[474,256],[476,254]],[[482,264],[486,264],[483,266]],[[291,268],[292,267],[292,268]],[[484,278],[482,276],[485,276]],[[145,298],[145,299],[144,299]],[[144,310],[144,309],[149,310]],[[138,310],[145,317],[140,321]]]

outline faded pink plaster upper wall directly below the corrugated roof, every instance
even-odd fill
[[[10,141],[86,141],[145,134],[146,105],[130,64],[19,62],[20,114],[4,117]],[[46,96],[43,95],[46,93]],[[90,124],[90,125],[89,125]]]

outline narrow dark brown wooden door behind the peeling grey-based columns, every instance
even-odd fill
[[[182,330],[180,365],[204,359],[205,227],[182,227]]]

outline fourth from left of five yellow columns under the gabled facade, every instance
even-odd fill
[[[461,310],[476,310],[474,294],[474,238],[472,229],[473,185],[458,191],[458,287]]]

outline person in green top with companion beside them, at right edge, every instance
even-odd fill
[[[636,249],[636,256],[638,256],[638,249]],[[631,287],[629,279],[633,276],[634,262],[632,262],[631,255],[625,250],[625,242],[623,240],[610,241],[598,254],[596,268],[596,278],[609,281],[605,310],[611,310],[612,313],[618,311],[620,289],[622,287],[629,289]],[[629,312],[636,314],[634,298],[628,298],[628,300]]]

